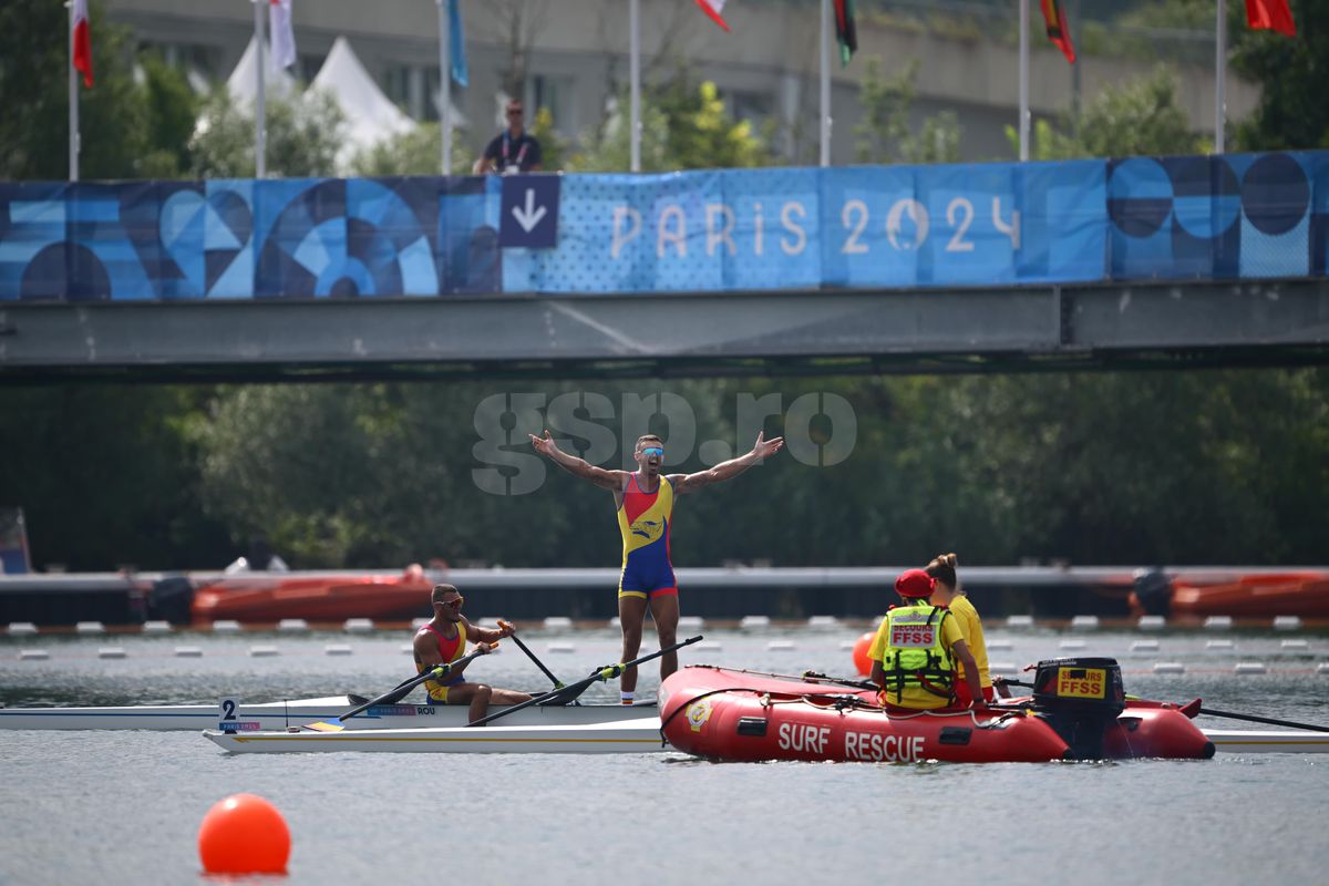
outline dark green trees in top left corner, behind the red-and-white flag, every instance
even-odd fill
[[[80,177],[138,178],[173,173],[185,138],[178,73],[145,62],[145,85],[133,76],[132,37],[98,0],[92,16],[93,86],[78,86],[82,134]],[[49,0],[0,4],[0,178],[64,179],[69,174],[69,12]],[[166,102],[162,108],[155,102]],[[186,135],[187,137],[187,135]],[[171,161],[170,158],[175,159]]]

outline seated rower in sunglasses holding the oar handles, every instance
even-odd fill
[[[452,584],[435,584],[429,591],[429,602],[433,604],[433,619],[416,631],[415,660],[416,673],[439,664],[456,662],[466,652],[466,640],[478,644],[477,648],[486,648],[484,644],[494,643],[505,636],[512,636],[513,627],[509,622],[498,622],[498,627],[480,627],[472,624],[461,614],[461,604],[465,598]],[[429,693],[429,704],[469,704],[469,721],[474,723],[485,716],[489,704],[518,704],[530,696],[514,689],[494,689],[484,683],[470,683],[464,671],[466,665],[452,671],[443,683],[425,680],[424,688]]]

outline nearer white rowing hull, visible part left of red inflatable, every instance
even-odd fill
[[[513,717],[521,716],[517,712]],[[489,725],[344,732],[218,732],[203,736],[231,753],[658,753],[658,717],[589,725]]]

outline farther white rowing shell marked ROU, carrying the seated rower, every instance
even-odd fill
[[[336,720],[351,709],[346,696],[245,704],[165,704],[110,708],[0,708],[0,729],[225,729],[264,732]],[[501,711],[494,707],[492,711]],[[342,723],[348,731],[461,727],[465,705],[380,704]],[[655,703],[533,705],[504,717],[509,725],[583,725],[655,716]]]

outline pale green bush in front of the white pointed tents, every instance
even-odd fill
[[[346,117],[336,98],[306,92],[287,101],[268,96],[267,174],[272,178],[335,175]],[[197,178],[254,177],[254,113],[217,89],[199,112],[190,142]]]

